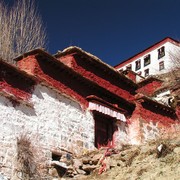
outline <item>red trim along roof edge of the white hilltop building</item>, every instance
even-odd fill
[[[177,40],[174,40],[174,39],[172,39],[172,38],[170,38],[170,37],[166,37],[166,38],[164,38],[163,40],[161,40],[161,41],[153,44],[152,46],[146,48],[145,50],[139,52],[138,54],[135,54],[134,56],[128,58],[127,60],[119,63],[118,65],[114,66],[114,68],[115,68],[115,69],[122,68],[122,67],[124,67],[126,64],[131,63],[132,61],[140,58],[141,56],[144,56],[144,55],[147,54],[147,53],[150,53],[151,51],[153,51],[154,49],[158,48],[159,46],[162,46],[162,45],[163,45],[164,43],[166,43],[166,42],[171,42],[171,43],[175,44],[176,46],[179,46],[179,45],[180,45]]]

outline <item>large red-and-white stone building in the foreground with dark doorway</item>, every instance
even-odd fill
[[[36,49],[15,61],[0,60],[0,167],[8,179],[22,178],[24,135],[36,158],[32,171],[47,177],[62,149],[80,154],[176,132],[176,108],[150,98],[159,80],[137,84],[77,47],[55,56]]]

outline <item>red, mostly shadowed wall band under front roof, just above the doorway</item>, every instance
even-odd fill
[[[68,57],[70,58],[70,56]],[[36,76],[39,81],[46,82],[49,86],[59,92],[67,94],[80,102],[84,108],[88,106],[88,101],[85,99],[86,96],[94,94],[108,102],[112,101],[121,106],[126,106],[128,110],[134,110],[134,104],[128,102],[125,98],[118,96],[117,93],[108,91],[107,88],[103,87],[101,84],[83,77],[81,74],[75,72],[72,68],[69,68],[57,59],[49,59],[46,54],[44,56],[42,56],[42,54],[31,54],[28,57],[19,60],[17,64],[22,70]],[[30,72],[29,66],[33,67]],[[126,92],[126,94],[127,93],[129,94],[129,92]],[[133,98],[133,95],[130,97]],[[126,99],[128,98],[129,97],[126,95]]]

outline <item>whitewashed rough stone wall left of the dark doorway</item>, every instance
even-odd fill
[[[75,153],[94,148],[94,119],[89,111],[45,86],[37,85],[30,100],[34,107],[13,106],[0,96],[0,165],[2,172],[11,174],[16,156],[16,142],[26,134],[46,161],[51,150],[64,147]],[[45,162],[44,162],[45,163]]]

